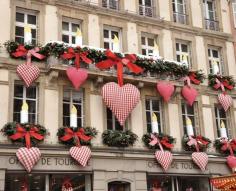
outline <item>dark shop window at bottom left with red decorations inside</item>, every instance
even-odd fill
[[[5,190],[7,191],[91,191],[91,175],[83,173],[7,173]]]

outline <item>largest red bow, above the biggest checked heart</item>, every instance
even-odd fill
[[[142,68],[134,64],[136,61],[136,55],[134,54],[127,54],[123,58],[119,58],[116,54],[111,52],[110,50],[106,50],[105,52],[107,59],[101,62],[98,62],[96,66],[99,69],[108,69],[114,65],[117,66],[117,77],[118,77],[118,84],[123,86],[123,67],[126,66],[130,71],[134,72],[135,74],[139,74],[143,71]]]

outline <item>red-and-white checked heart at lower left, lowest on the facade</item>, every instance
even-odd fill
[[[22,147],[17,150],[16,156],[27,172],[31,172],[34,165],[39,161],[41,153],[37,147]]]

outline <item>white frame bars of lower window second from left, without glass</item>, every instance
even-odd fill
[[[68,102],[68,101],[64,101],[64,93],[66,92],[66,91],[69,91],[69,99],[70,99],[70,101]],[[79,104],[79,103],[74,103],[73,102],[73,93],[74,92],[79,92],[80,94],[82,94],[82,97],[80,97],[81,98],[81,103]],[[78,119],[80,118],[80,120],[81,120],[81,125],[79,125],[79,124],[77,124],[77,126],[78,127],[83,127],[83,125],[84,125],[84,123],[85,123],[85,115],[84,115],[84,104],[85,104],[85,100],[84,100],[84,89],[80,89],[79,91],[76,91],[76,90],[74,90],[73,88],[68,88],[68,87],[63,87],[63,90],[62,90],[62,125],[63,126],[70,126],[70,124],[65,124],[65,122],[64,122],[64,117],[68,117],[68,118],[70,118],[70,110],[71,110],[71,108],[72,108],[72,106],[73,105],[80,105],[80,107],[81,107],[81,117],[79,117],[78,116],[78,111],[77,111],[77,121],[78,121]],[[69,104],[69,115],[64,115],[64,104]]]

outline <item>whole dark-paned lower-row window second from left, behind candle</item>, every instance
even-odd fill
[[[83,127],[83,90],[65,89],[63,92],[63,126],[70,126],[72,106],[77,109],[77,126]]]

